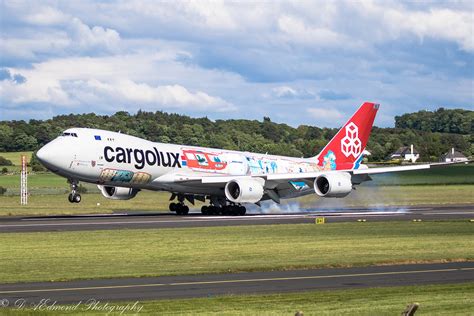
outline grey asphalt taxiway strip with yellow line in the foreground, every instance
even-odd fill
[[[0,301],[135,301],[462,282],[474,282],[474,262],[0,284]]]

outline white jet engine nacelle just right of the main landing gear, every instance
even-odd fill
[[[235,179],[225,185],[226,198],[234,203],[257,203],[263,197],[263,180]]]

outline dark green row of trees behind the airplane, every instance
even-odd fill
[[[431,114],[427,114],[431,113]],[[433,114],[438,113],[438,114]],[[445,125],[426,130],[424,116],[438,117],[442,113]],[[462,115],[461,127],[457,120]],[[431,117],[430,116],[430,117]],[[451,118],[451,119],[449,119]],[[465,119],[468,118],[468,122]],[[421,120],[421,123],[414,123]],[[427,119],[431,122],[431,118]],[[430,123],[431,124],[431,123]],[[434,123],[433,123],[434,124]],[[396,128],[375,127],[368,144],[371,160],[388,157],[400,146],[415,144],[423,160],[436,160],[451,147],[466,155],[474,154],[472,126],[474,112],[444,110],[417,112],[396,118]],[[431,126],[431,125],[429,125]],[[469,126],[467,128],[466,126]],[[217,120],[191,118],[164,112],[144,112],[131,115],[70,114],[49,120],[1,121],[0,151],[36,150],[70,127],[91,127],[146,138],[151,141],[217,147],[269,154],[310,157],[316,155],[335,135],[337,129],[301,125],[293,128],[277,124],[268,117],[257,120]],[[431,127],[430,127],[431,128]]]

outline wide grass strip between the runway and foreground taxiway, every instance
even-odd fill
[[[474,224],[366,222],[0,234],[0,283],[474,260]]]

